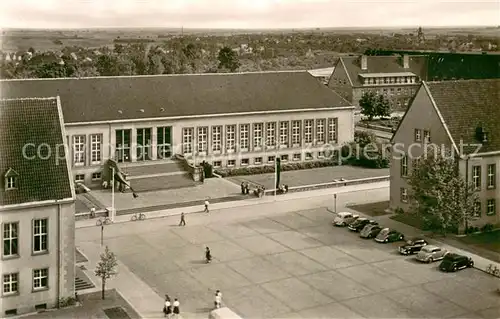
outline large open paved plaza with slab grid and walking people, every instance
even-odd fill
[[[179,298],[200,318],[216,289],[243,318],[499,317],[498,279],[476,269],[441,273],[438,263],[400,256],[398,244],[334,228],[332,217],[325,208],[192,214],[186,227],[174,217],[113,225],[105,244],[159,296]],[[96,231],[78,230],[77,241],[98,242]]]

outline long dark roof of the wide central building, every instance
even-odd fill
[[[0,86],[10,98],[59,95],[65,123],[350,106],[306,71],[6,80]]]

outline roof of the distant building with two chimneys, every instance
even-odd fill
[[[359,74],[365,73],[403,73],[412,72],[418,77],[426,78],[426,61],[427,57],[413,55],[409,56],[409,68],[405,69],[403,67],[403,57],[402,56],[366,56],[367,58],[367,69],[361,69],[361,56],[348,56],[341,57],[340,59],[346,67],[347,74],[351,78],[353,86],[360,86]],[[337,67],[342,64],[337,64]]]

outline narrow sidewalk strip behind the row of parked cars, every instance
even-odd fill
[[[353,209],[350,209],[350,208],[347,208],[347,210],[354,211]],[[357,213],[359,213],[359,212],[357,212]],[[486,268],[488,268],[489,265],[493,265],[493,266],[500,268],[500,263],[498,263],[496,261],[492,261],[492,260],[483,258],[481,256],[478,256],[477,254],[474,254],[474,253],[471,253],[469,251],[466,251],[466,250],[457,248],[455,246],[449,245],[446,243],[447,242],[446,238],[443,238],[443,239],[441,239],[441,238],[439,238],[439,239],[429,238],[429,236],[427,236],[424,231],[417,229],[415,227],[406,225],[404,223],[400,223],[398,221],[395,221],[395,220],[390,218],[391,216],[392,215],[389,214],[389,215],[384,215],[384,216],[375,216],[375,217],[368,216],[368,217],[378,221],[379,224],[381,224],[385,227],[388,227],[391,229],[396,229],[396,230],[400,231],[401,233],[403,233],[405,235],[405,237],[407,239],[410,239],[412,237],[425,237],[428,240],[428,242],[431,244],[435,244],[437,246],[443,247],[443,248],[447,249],[448,251],[455,252],[455,253],[460,254],[460,255],[470,256],[474,260],[474,268],[477,268],[481,271],[486,272]],[[499,288],[500,288],[500,286],[499,286]]]

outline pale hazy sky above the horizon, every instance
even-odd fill
[[[12,28],[498,25],[500,0],[7,0]]]

